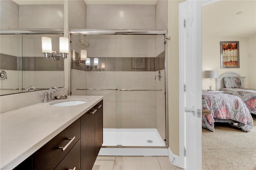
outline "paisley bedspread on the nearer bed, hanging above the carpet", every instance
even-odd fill
[[[202,114],[202,127],[214,132],[214,118],[231,119],[239,122],[241,130],[250,132],[253,119],[242,99],[223,93],[202,93],[202,109],[211,114]]]

